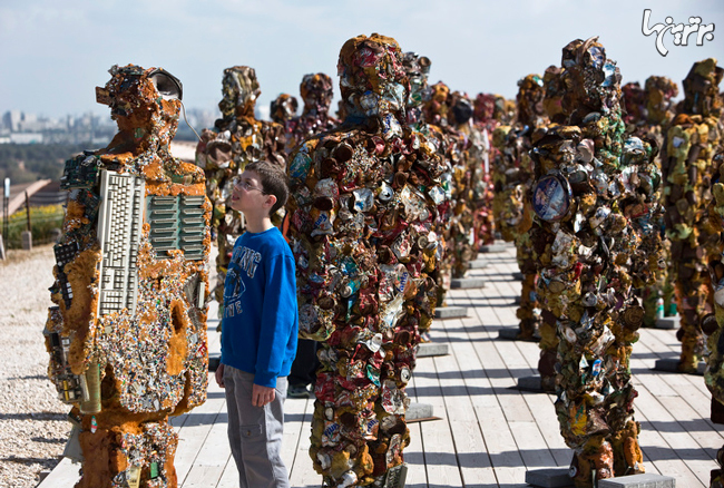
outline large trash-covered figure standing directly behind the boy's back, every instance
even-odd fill
[[[381,486],[404,470],[404,389],[434,315],[446,166],[407,125],[394,39],[350,39],[337,67],[346,119],[288,168],[300,334],[323,341],[310,455],[326,486]]]

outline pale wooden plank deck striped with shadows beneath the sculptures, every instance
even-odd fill
[[[420,358],[408,392],[413,401],[431,403],[441,420],[410,424],[407,487],[525,487],[527,470],[567,467],[570,450],[558,432],[554,397],[515,389],[519,377],[536,372],[538,345],[498,339],[501,328],[516,326],[515,297],[520,284],[515,248],[480,255],[488,262],[470,276],[483,276],[478,290],[453,290],[450,305],[468,308],[468,318],[437,321],[433,340],[450,344],[451,353]],[[218,348],[209,324],[212,350]],[[711,396],[702,377],[661,373],[654,362],[676,358],[675,331],[642,330],[634,347],[632,371],[639,397],[636,419],[647,472],[676,478],[681,488],[707,487],[724,445],[723,428],[710,419]],[[313,400],[285,403],[284,459],[293,487],[320,487],[307,449]],[[235,488],[237,472],[226,437],[224,392],[209,378],[208,401],[173,420],[180,441],[176,469],[183,488]],[[78,466],[67,461],[41,484],[71,487]]]

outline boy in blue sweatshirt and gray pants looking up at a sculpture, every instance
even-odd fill
[[[281,458],[286,377],[296,352],[294,256],[270,215],[286,203],[286,175],[254,162],[234,182],[244,213],[224,286],[218,385],[226,389],[228,440],[241,487],[288,487]]]

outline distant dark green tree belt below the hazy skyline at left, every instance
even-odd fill
[[[78,144],[0,144],[0,182],[16,185],[37,179],[60,179],[66,159],[88,149]]]

